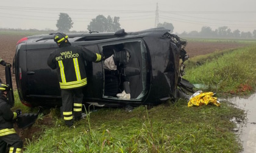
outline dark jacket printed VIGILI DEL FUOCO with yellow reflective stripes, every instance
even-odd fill
[[[57,69],[60,89],[74,89],[87,85],[85,61],[99,62],[102,60],[104,59],[98,53],[66,43],[49,55],[48,66]]]

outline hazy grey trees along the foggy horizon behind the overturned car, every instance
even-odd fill
[[[91,19],[89,25],[87,25],[88,32],[116,32],[121,29],[121,24],[119,24],[119,17],[98,15],[96,18]],[[59,19],[57,20],[57,31],[58,32],[76,32],[70,31],[73,27],[74,22],[67,13],[60,13]],[[165,27],[173,32],[174,26],[169,22],[158,23],[157,27]],[[2,29],[0,29],[2,30]],[[46,29],[47,31],[54,32],[54,30]],[[29,31],[37,31],[37,29],[30,29]],[[38,30],[40,31],[40,30]],[[241,39],[256,39],[256,30],[253,32],[241,32],[240,30],[230,30],[227,26],[219,27],[218,29],[212,30],[211,27],[204,26],[200,32],[196,30],[191,32],[176,33],[180,36],[190,36],[190,37],[204,37],[204,38],[241,38]]]

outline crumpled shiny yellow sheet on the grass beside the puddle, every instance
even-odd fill
[[[188,107],[191,106],[201,106],[201,105],[207,105],[208,103],[215,104],[216,106],[221,106],[221,103],[217,100],[216,97],[213,97],[213,92],[202,92],[197,91],[192,97],[190,98],[190,101],[188,101]]]

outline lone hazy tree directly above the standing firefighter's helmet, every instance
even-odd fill
[[[66,13],[60,13],[56,27],[59,32],[69,32],[69,29],[73,27],[72,19]]]

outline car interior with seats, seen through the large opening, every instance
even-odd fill
[[[104,61],[105,98],[118,98],[116,95],[123,91],[130,93],[129,100],[143,97],[146,89],[146,60],[143,60],[146,58],[146,49],[141,46],[140,41],[102,46],[105,59],[112,58],[112,66],[107,67]]]

